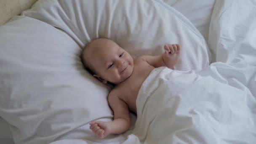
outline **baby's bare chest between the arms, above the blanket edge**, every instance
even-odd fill
[[[142,83],[154,69],[146,61],[135,60],[132,75],[117,87],[120,99],[123,99],[129,109],[136,113],[136,99]]]

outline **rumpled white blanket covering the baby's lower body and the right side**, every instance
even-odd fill
[[[255,0],[216,0],[208,43],[224,63],[200,72],[153,70],[126,142],[256,143],[255,8]]]

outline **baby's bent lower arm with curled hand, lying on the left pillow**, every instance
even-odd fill
[[[110,133],[123,133],[131,126],[127,104],[111,92],[109,93],[108,101],[114,112],[114,120],[112,122],[93,121],[90,123],[90,129],[100,138],[104,138]]]

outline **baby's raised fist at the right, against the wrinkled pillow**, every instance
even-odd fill
[[[172,68],[179,60],[180,45],[179,44],[168,44],[164,46],[165,53],[163,53],[163,61],[166,66]]]

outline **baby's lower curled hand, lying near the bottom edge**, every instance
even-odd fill
[[[111,125],[107,122],[101,121],[92,121],[90,123],[90,129],[95,133],[99,138],[105,138],[111,133]]]

